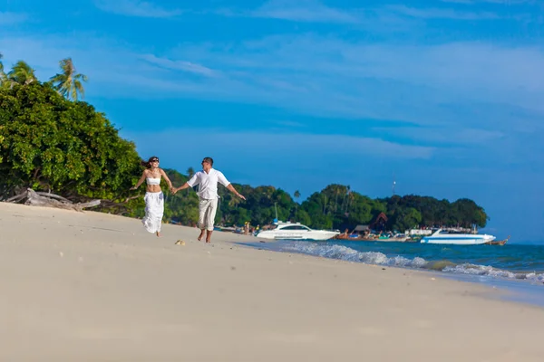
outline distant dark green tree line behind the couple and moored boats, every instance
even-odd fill
[[[170,180],[176,185],[185,183],[188,175],[167,169]],[[484,227],[489,219],[483,208],[470,199],[461,198],[455,202],[438,200],[430,196],[394,195],[385,198],[370,198],[351,189],[350,186],[329,185],[310,195],[302,203],[296,191],[292,197],[286,191],[274,186],[233,184],[247,201],[231,195],[219,187],[219,210],[217,223],[227,226],[243,225],[246,222],[256,226],[271,224],[276,218],[295,221],[316,229],[354,228],[357,224],[373,224],[378,215],[385,214],[385,230],[404,232],[413,227],[441,227],[477,225]],[[166,185],[163,185],[166,191]],[[196,224],[198,196],[193,190],[180,195],[170,195],[166,212],[170,222]]]

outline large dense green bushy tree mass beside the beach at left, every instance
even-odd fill
[[[0,90],[0,177],[5,191],[52,190],[121,201],[141,175],[133,143],[102,113],[37,81]]]

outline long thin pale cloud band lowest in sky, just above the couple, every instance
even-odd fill
[[[205,142],[202,141],[204,136]],[[435,151],[432,147],[402,145],[379,138],[250,130],[169,129],[154,133],[125,132],[123,137],[135,140],[142,155],[150,152],[178,155],[182,152],[188,159],[198,159],[204,154],[220,155],[228,152],[230,157],[245,160],[250,152],[252,159],[259,159],[268,165],[270,172],[287,174],[291,171],[289,167],[303,167],[301,159],[306,158],[316,160],[315,166],[319,166],[319,160],[325,158],[426,160]],[[145,142],[145,139],[150,138],[160,139],[160,145]],[[277,162],[278,157],[282,162]],[[172,162],[174,158],[171,158]]]

